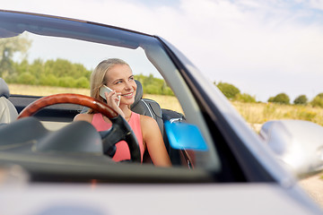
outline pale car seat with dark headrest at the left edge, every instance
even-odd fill
[[[16,120],[17,109],[9,101],[10,92],[8,85],[0,78],[0,124],[8,124]]]

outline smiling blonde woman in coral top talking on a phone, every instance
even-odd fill
[[[130,105],[135,101],[136,84],[130,66],[123,60],[110,58],[97,65],[91,76],[92,98],[105,101],[100,98],[100,87],[106,85],[112,91],[105,92],[105,100],[109,107],[112,107],[123,116],[139,142],[143,160],[144,150],[148,150],[155,166],[171,166],[170,158],[162,141],[162,133],[157,122],[149,116],[138,115],[130,110]],[[119,105],[118,105],[119,103]],[[84,120],[92,123],[98,131],[108,130],[111,126],[109,118],[100,113],[94,113],[91,109],[87,114],[79,114],[74,120]],[[126,142],[116,144],[116,154],[112,159],[120,161],[130,159],[130,152]]]

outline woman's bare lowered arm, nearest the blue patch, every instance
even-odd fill
[[[149,116],[140,116],[143,140],[153,164],[160,167],[170,167],[170,157],[162,140],[162,133],[157,122]]]

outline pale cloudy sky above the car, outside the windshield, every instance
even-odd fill
[[[323,92],[323,0],[0,0],[167,39],[211,82],[266,101]]]

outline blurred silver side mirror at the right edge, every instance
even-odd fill
[[[323,127],[308,121],[266,122],[260,136],[296,176],[323,169]]]

